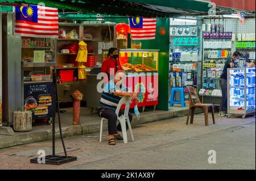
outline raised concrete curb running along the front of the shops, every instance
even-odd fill
[[[201,113],[202,111],[196,110],[195,113]],[[167,120],[172,119],[174,117],[186,116],[187,110],[181,111],[166,111],[166,112],[159,112],[159,113],[149,113],[147,115],[142,115],[141,120],[133,121],[132,126],[138,124],[145,124],[151,123],[155,121]],[[135,116],[134,116],[135,117]],[[108,129],[108,124],[104,123],[104,131]],[[81,124],[81,125],[72,125],[70,127],[63,127],[62,133],[63,137],[72,137],[72,136],[79,136],[82,134],[90,134],[100,132],[100,121],[98,123],[93,124]],[[60,138],[59,128],[55,129],[56,139]],[[9,148],[11,146],[18,146],[24,144],[31,144],[34,142],[42,142],[42,141],[49,141],[52,140],[52,130],[46,131],[38,131],[38,132],[25,132],[15,134],[14,136],[5,136],[0,139],[0,149]]]

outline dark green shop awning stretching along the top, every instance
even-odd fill
[[[27,3],[37,5],[45,3],[49,7],[57,7],[60,11],[70,12],[93,12],[99,14],[121,15],[121,16],[156,16],[172,17],[179,15],[207,15],[211,6],[209,3],[191,0],[0,0],[0,3]],[[217,14],[237,12],[239,10],[216,7]],[[250,12],[250,13],[254,13]]]

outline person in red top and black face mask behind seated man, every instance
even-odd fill
[[[110,73],[113,74],[113,77],[115,73],[119,70],[123,70],[120,61],[118,60],[119,57],[119,50],[117,48],[110,48],[108,52],[108,58],[104,60],[101,66],[101,72],[108,74],[108,78],[110,80]],[[111,69],[113,69],[111,71]]]

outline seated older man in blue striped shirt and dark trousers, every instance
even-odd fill
[[[115,114],[115,110],[117,109],[117,105],[119,100],[122,99],[123,96],[129,96],[132,100],[136,100],[138,103],[138,96],[135,92],[128,92],[123,82],[125,82],[125,72],[117,71],[115,74],[114,81],[111,80],[104,88],[104,92],[102,92],[100,106],[98,107],[98,115],[100,117],[104,117],[108,119],[108,129],[109,129],[109,145],[115,145],[115,140],[123,140],[118,132],[122,132],[121,125],[117,126],[117,115]],[[119,111],[119,116],[121,116],[125,110]],[[133,119],[133,115],[129,113],[129,120]],[[126,124],[126,128],[127,124]]]

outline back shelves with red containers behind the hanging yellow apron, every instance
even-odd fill
[[[79,90],[84,94],[83,100],[90,96],[86,91],[88,85],[86,74],[98,66],[101,61],[101,49],[113,47],[114,24],[59,23],[60,33],[57,39],[57,75],[59,75],[59,98],[62,103],[72,102],[71,94]],[[111,39],[110,39],[111,37]],[[86,62],[77,62],[79,43],[87,45],[88,57]],[[103,45],[102,45],[103,44]],[[84,65],[85,79],[79,79],[79,66]],[[64,78],[64,79],[63,79]]]

